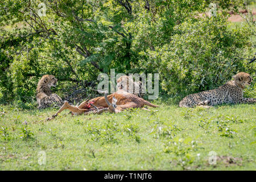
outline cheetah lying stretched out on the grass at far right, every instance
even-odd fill
[[[244,98],[243,89],[250,85],[253,78],[249,73],[240,72],[233,80],[226,82],[217,89],[189,94],[180,101],[180,107],[203,106],[210,107],[221,104],[253,104],[256,98]]]

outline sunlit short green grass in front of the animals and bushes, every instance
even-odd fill
[[[255,170],[256,105],[156,104],[119,114],[65,111],[48,122],[56,110],[0,106],[0,170]]]

